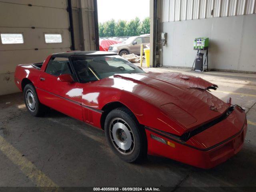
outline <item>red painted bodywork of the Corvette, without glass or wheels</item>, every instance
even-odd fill
[[[90,56],[103,53],[94,52]],[[66,53],[67,56],[81,54],[85,55],[84,52]],[[88,83],[61,82],[45,72],[52,56],[46,58],[40,70],[24,64],[17,66],[15,72],[18,88],[22,90],[24,79],[30,80],[40,102],[46,106],[103,129],[101,120],[108,104],[122,103],[145,126],[148,154],[200,168],[212,168],[242,148],[247,130],[246,114],[234,106],[230,114],[223,117],[230,103],[208,91],[217,87],[210,82],[179,73],[152,72],[116,74]],[[218,119],[219,122],[211,125]],[[187,140],[181,139],[205,126],[208,128]],[[172,146],[152,139],[151,134],[171,142]]]

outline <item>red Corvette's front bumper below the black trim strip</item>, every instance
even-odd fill
[[[247,122],[245,121],[240,132],[234,136],[216,144],[213,148],[199,149],[189,146],[186,142],[182,143],[168,139],[162,134],[154,131],[154,129],[146,128],[148,154],[163,156],[199,168],[209,169],[225,162],[241,150],[244,144],[246,131]],[[163,138],[172,143],[172,145],[167,145],[154,140],[151,134]]]

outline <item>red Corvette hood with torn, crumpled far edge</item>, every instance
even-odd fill
[[[184,126],[184,132],[221,116],[229,104],[212,95],[218,87],[202,78],[180,73],[116,74],[133,83],[132,94],[158,107],[166,116]]]

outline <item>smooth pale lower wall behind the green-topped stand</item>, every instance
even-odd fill
[[[163,22],[164,66],[192,67],[193,40],[209,37],[209,68],[256,72],[256,14]]]

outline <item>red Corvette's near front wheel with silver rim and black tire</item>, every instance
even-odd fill
[[[106,116],[105,136],[113,152],[125,162],[140,162],[147,156],[146,132],[127,108],[116,108]]]

